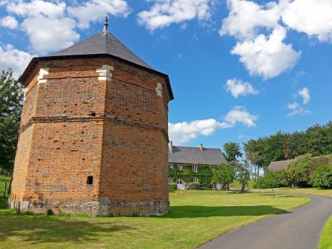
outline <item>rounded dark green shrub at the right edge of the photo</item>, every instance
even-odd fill
[[[332,188],[332,165],[322,165],[311,174],[313,187]]]

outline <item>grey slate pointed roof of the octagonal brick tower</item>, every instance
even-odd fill
[[[97,35],[93,35],[84,41],[74,44],[69,48],[61,50],[52,56],[68,56],[68,55],[100,55],[109,54],[121,59],[125,59],[129,62],[133,62],[146,68],[151,68],[148,64],[142,61],[137,55],[135,55],[129,48],[124,46],[116,37],[111,33],[100,32]]]

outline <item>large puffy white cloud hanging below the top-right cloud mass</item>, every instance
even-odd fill
[[[259,35],[254,40],[237,42],[232,49],[233,55],[239,55],[240,61],[251,75],[259,75],[267,80],[293,68],[301,55],[290,44],[284,44],[286,30],[279,26],[266,37]]]

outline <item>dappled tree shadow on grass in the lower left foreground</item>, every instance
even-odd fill
[[[0,243],[10,237],[29,243],[82,243],[98,241],[100,236],[109,239],[114,232],[124,230],[133,232],[136,228],[129,225],[118,225],[105,218],[88,216],[46,216],[19,215],[3,209],[6,199],[0,199]],[[0,246],[1,248],[1,246]]]

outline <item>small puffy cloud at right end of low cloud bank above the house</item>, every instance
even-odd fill
[[[243,123],[247,127],[255,127],[257,116],[250,114],[245,107],[233,107],[225,116],[225,122],[232,124]]]

